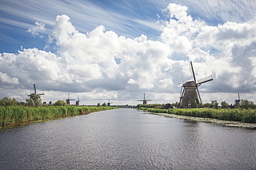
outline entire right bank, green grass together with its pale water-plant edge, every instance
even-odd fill
[[[143,107],[139,109],[172,118],[217,123],[232,127],[256,128],[255,109],[150,109]]]

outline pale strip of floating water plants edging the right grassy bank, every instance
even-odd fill
[[[182,118],[182,119],[186,119],[186,120],[199,121],[199,122],[205,122],[205,123],[215,123],[215,124],[229,126],[229,127],[244,127],[244,128],[250,128],[250,129],[256,128],[256,123],[243,123],[241,121],[220,120],[217,118],[177,115],[177,114],[172,114],[171,111],[168,111],[168,110],[165,110],[165,113],[161,113],[161,111],[159,111],[159,109],[157,109],[157,110],[156,109],[143,109],[143,110],[147,110],[149,114],[157,114],[157,115],[167,116],[167,117],[171,117],[171,118]]]

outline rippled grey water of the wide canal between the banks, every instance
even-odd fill
[[[256,169],[256,130],[113,109],[0,130],[0,169]]]

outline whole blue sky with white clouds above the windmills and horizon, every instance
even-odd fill
[[[0,0],[0,98],[68,98],[80,105],[256,102],[254,0]],[[71,101],[75,104],[75,101]]]

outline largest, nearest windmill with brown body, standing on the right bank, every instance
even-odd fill
[[[190,108],[190,107],[200,107],[203,106],[198,87],[207,83],[208,81],[213,81],[212,75],[206,76],[205,78],[201,78],[196,83],[196,76],[194,75],[194,69],[192,65],[192,61],[190,61],[191,71],[193,75],[194,81],[187,81],[182,85],[183,91],[181,93],[181,98],[179,101],[179,107]]]

